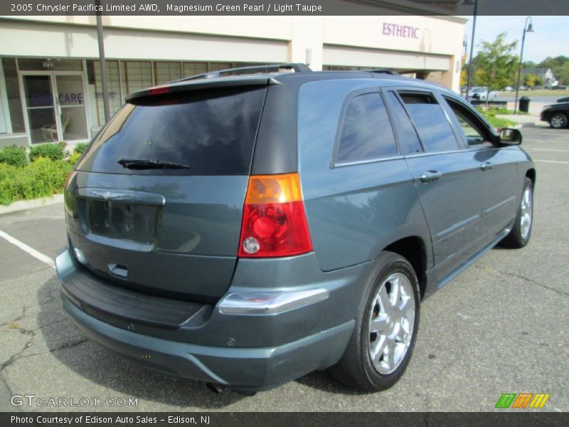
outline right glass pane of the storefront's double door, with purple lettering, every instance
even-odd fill
[[[83,76],[55,74],[55,104],[63,141],[88,139]]]

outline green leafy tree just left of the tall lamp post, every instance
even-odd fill
[[[518,42],[506,43],[506,33],[501,33],[492,43],[482,41],[477,54],[477,80],[488,90],[511,86],[516,80],[519,58],[514,54]]]

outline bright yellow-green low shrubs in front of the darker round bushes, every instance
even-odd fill
[[[72,167],[63,160],[54,162],[46,157],[39,157],[26,167],[0,164],[0,204],[60,193]]]

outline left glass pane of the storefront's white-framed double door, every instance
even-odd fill
[[[32,144],[59,141],[51,75],[23,75],[26,113]]]

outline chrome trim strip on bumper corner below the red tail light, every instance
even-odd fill
[[[324,301],[326,289],[299,290],[293,292],[234,292],[218,304],[222,315],[278,315],[288,310]]]

